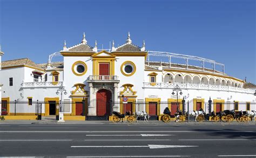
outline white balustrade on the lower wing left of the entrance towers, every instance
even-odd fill
[[[62,87],[64,86],[64,81],[58,82],[30,82],[30,83],[22,83],[23,88],[30,88],[30,87]]]

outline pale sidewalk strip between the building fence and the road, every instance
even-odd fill
[[[0,125],[256,125],[256,122],[162,122],[162,121],[138,121],[129,123],[125,122],[111,122],[111,121],[65,121],[58,122],[57,120],[4,120],[0,121]]]

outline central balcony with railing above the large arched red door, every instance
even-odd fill
[[[90,75],[87,80],[89,83],[119,83],[117,75]]]

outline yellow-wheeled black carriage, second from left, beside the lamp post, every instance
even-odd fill
[[[186,115],[183,115],[181,111],[178,111],[174,115],[171,115],[170,109],[166,107],[164,109],[164,115],[161,116],[161,120],[163,122],[170,122],[171,118],[175,118],[176,116],[178,122],[184,122],[186,120]]]

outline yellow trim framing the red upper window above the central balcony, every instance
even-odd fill
[[[100,63],[108,63],[109,64],[109,75],[114,75],[114,58],[93,58],[92,59],[92,70],[93,75],[99,75],[99,64]]]

